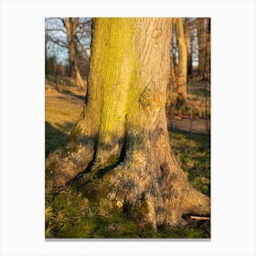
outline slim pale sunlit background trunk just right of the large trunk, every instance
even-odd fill
[[[181,17],[176,19],[176,38],[178,45],[177,93],[187,98],[187,46]]]

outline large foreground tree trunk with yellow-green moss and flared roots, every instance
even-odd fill
[[[169,144],[170,18],[94,19],[88,101],[69,144],[47,159],[48,189],[85,171],[84,191],[141,228],[209,213]],[[49,180],[50,180],[49,178]]]

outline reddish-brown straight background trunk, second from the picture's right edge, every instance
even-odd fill
[[[197,40],[198,40],[198,50],[199,50],[199,63],[198,63],[197,76],[199,80],[202,80],[205,75],[205,60],[206,60],[205,18],[198,18]]]

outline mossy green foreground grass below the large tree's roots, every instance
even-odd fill
[[[46,238],[208,238],[205,229],[138,229],[133,219],[113,209],[106,215],[78,192],[68,189],[46,197]]]

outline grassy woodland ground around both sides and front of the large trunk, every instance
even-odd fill
[[[206,121],[200,118],[204,106],[204,86],[195,82],[191,94],[197,115],[174,109],[169,123],[170,138],[176,158],[187,173],[191,185],[210,196],[210,139]],[[201,85],[201,86],[200,86]],[[200,91],[201,90],[201,91]],[[61,92],[46,85],[46,157],[67,142],[69,133],[80,116],[84,91],[63,86]],[[196,99],[196,100],[195,100]],[[192,101],[190,101],[191,103]],[[196,103],[195,103],[196,102]],[[179,115],[181,119],[175,119]],[[209,122],[208,122],[209,123]],[[139,230],[132,219],[119,212],[99,212],[90,198],[83,197],[76,182],[58,195],[46,197],[46,238],[209,238],[209,220],[188,221],[184,229],[159,227]]]

